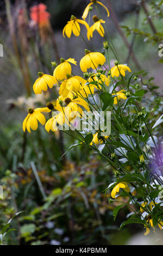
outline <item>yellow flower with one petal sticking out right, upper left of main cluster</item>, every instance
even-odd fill
[[[53,72],[53,76],[55,77],[55,79],[57,80],[64,80],[64,79],[67,79],[67,75],[71,75],[71,65],[70,63],[74,64],[74,65],[77,65],[76,61],[72,58],[69,58],[69,59],[63,59],[61,58],[61,64],[59,64],[54,72]],[[69,63],[70,62],[70,63]]]

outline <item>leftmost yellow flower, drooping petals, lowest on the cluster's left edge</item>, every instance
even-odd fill
[[[28,115],[23,121],[23,131],[24,132],[26,131],[26,128],[27,128],[28,132],[30,132],[30,128],[32,130],[37,130],[38,121],[42,125],[45,125],[46,119],[45,119],[45,116],[41,112],[51,112],[51,110],[47,107],[36,108],[36,109],[29,108],[28,109]]]

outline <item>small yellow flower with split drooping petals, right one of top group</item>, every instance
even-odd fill
[[[103,28],[103,26],[101,25],[101,23],[105,23],[105,21],[99,20],[96,15],[93,16],[92,19],[93,19],[93,21],[94,21],[95,23],[90,27],[90,29],[89,29],[88,32],[87,32],[87,38],[88,38],[88,40],[90,40],[90,36],[91,36],[91,38],[93,37],[93,32],[94,32],[95,30],[97,30],[97,32],[98,32],[101,36],[104,36],[104,28]]]

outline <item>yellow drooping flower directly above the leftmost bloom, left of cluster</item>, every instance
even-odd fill
[[[57,80],[53,76],[39,72],[39,78],[37,78],[33,85],[34,93],[41,94],[42,90],[46,92],[48,87],[52,88],[55,83],[57,83]]]

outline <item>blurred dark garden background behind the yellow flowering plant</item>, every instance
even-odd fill
[[[103,3],[111,13],[109,19],[101,9],[122,62],[128,63],[132,70],[144,70],[139,73],[140,82],[146,89],[144,104],[151,123],[162,113],[162,59],[158,56],[162,2],[105,0]],[[34,24],[30,17],[30,8],[39,3],[47,5],[51,14],[47,27]],[[86,44],[80,37],[64,39],[62,29],[71,14],[80,18],[88,3],[86,0],[0,1],[0,43],[4,47],[4,57],[0,58],[2,244],[122,245],[141,230],[139,225],[128,225],[118,231],[127,209],[121,210],[114,222],[114,205],[108,204],[109,195],[103,192],[114,175],[101,157],[84,145],[61,157],[76,143],[73,138],[61,132],[49,135],[43,127],[30,135],[22,131],[28,107],[43,106],[48,99],[53,100],[48,92],[33,95],[37,71],[52,74],[54,60],[59,63],[60,57],[77,60],[83,57]],[[82,34],[86,34],[84,29]],[[96,50],[101,51],[104,39],[98,35],[96,38]],[[79,66],[74,68],[76,71]],[[161,129],[162,125],[156,132],[160,134]],[[15,216],[16,212],[20,214]]]

